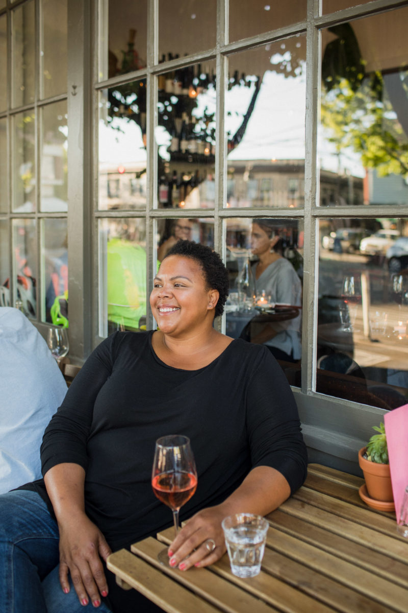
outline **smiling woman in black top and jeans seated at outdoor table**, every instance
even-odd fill
[[[180,240],[150,294],[158,329],[116,331],[86,360],[45,430],[43,479],[0,496],[4,613],[159,610],[105,562],[172,525],[151,485],[161,436],[188,436],[198,471],[168,548],[182,572],[224,555],[224,517],[268,514],[303,484],[292,390],[268,349],[215,329],[227,296],[220,256]]]

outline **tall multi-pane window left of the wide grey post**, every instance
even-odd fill
[[[40,325],[67,292],[67,0],[1,10],[0,304]]]

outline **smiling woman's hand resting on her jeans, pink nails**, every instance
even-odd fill
[[[106,561],[111,549],[102,532],[84,514],[65,519],[59,524],[59,581],[68,593],[70,573],[80,603],[86,606],[91,600],[94,607],[101,603],[101,596],[108,594],[108,584],[101,558]]]

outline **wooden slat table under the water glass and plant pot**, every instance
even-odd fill
[[[358,496],[363,480],[310,464],[305,485],[267,516],[262,570],[239,579],[228,555],[185,573],[157,560],[172,528],[122,549],[108,568],[168,613],[385,613],[408,611],[408,542],[394,513]]]

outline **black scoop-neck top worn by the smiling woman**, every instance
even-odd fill
[[[116,332],[95,349],[41,447],[43,474],[83,466],[87,516],[113,550],[172,523],[150,485],[160,436],[189,436],[195,455],[198,487],[181,519],[223,501],[254,466],[276,468],[292,492],[306,476],[294,396],[267,349],[237,339],[206,367],[180,370],[158,359],[152,333]],[[34,487],[51,508],[43,481]]]

